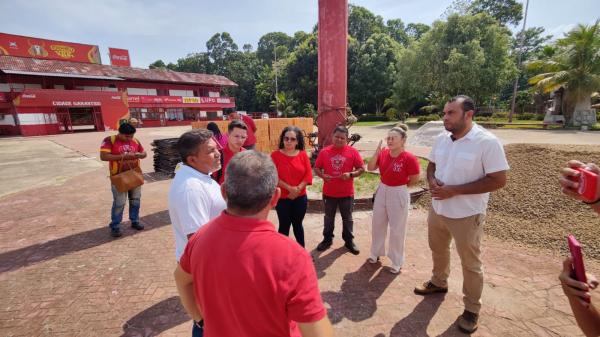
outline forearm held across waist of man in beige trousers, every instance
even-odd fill
[[[431,190],[431,196],[437,200],[444,200],[461,194],[481,194],[494,192],[501,189],[505,185],[506,171],[498,171],[494,173],[488,173],[483,178],[467,184],[441,185]]]

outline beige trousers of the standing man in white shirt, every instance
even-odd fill
[[[483,269],[480,259],[484,214],[452,219],[429,210],[429,247],[433,256],[431,282],[438,287],[448,286],[450,274],[450,243],[454,239],[463,270],[463,302],[465,309],[479,313],[483,291]]]

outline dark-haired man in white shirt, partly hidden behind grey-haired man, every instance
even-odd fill
[[[221,168],[221,155],[212,132],[184,133],[176,144],[183,165],[169,189],[169,216],[175,232],[175,256],[183,254],[188,238],[227,207],[221,187],[210,174]]]

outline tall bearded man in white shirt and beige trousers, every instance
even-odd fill
[[[458,327],[477,330],[483,269],[480,244],[489,194],[506,185],[509,169],[500,141],[473,123],[475,104],[456,96],[444,106],[444,127],[429,154],[427,181],[432,196],[429,247],[433,258],[431,280],[415,288],[429,295],[448,291],[450,243],[454,239],[463,269],[465,311]]]

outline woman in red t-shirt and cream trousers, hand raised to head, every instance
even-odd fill
[[[389,271],[398,274],[404,264],[404,241],[406,239],[406,220],[410,206],[408,186],[419,182],[420,167],[417,158],[404,150],[406,130],[401,124],[392,128],[387,135],[387,148],[381,148],[379,142],[373,158],[367,166],[369,171],[379,168],[381,183],[375,193],[373,203],[373,231],[370,263],[377,263],[385,255],[385,237],[390,229],[387,256],[392,265]]]

